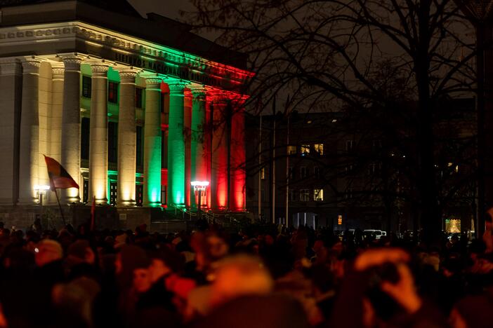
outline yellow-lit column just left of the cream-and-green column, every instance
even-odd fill
[[[136,72],[119,71],[118,206],[136,203]]]

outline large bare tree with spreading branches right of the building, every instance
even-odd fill
[[[454,1],[192,2],[189,24],[213,29],[218,42],[249,55],[252,103],[289,92],[286,108],[357,111],[387,136],[400,135],[407,145],[399,145],[406,155],[399,165],[413,184],[421,226],[428,240],[438,236],[440,188],[451,189],[438,179],[438,106],[470,93],[474,81],[471,26]],[[405,124],[393,128],[378,113]]]

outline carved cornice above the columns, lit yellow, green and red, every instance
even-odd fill
[[[108,62],[155,71],[206,86],[237,90],[248,78],[254,76],[253,73],[243,69],[206,60],[86,22],[0,27],[0,47],[37,41],[55,43],[64,38],[77,39],[86,43],[88,47],[95,47],[96,50],[104,48],[105,51],[102,51],[101,55],[114,56],[106,57]]]

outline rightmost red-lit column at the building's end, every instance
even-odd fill
[[[230,141],[230,210],[241,211],[245,208],[245,183],[247,174],[244,170],[245,121],[242,100],[232,102],[231,141]]]

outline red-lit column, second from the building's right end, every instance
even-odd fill
[[[213,209],[228,207],[228,133],[226,130],[226,107],[228,100],[222,93],[216,93],[212,105],[212,164],[211,201]]]

